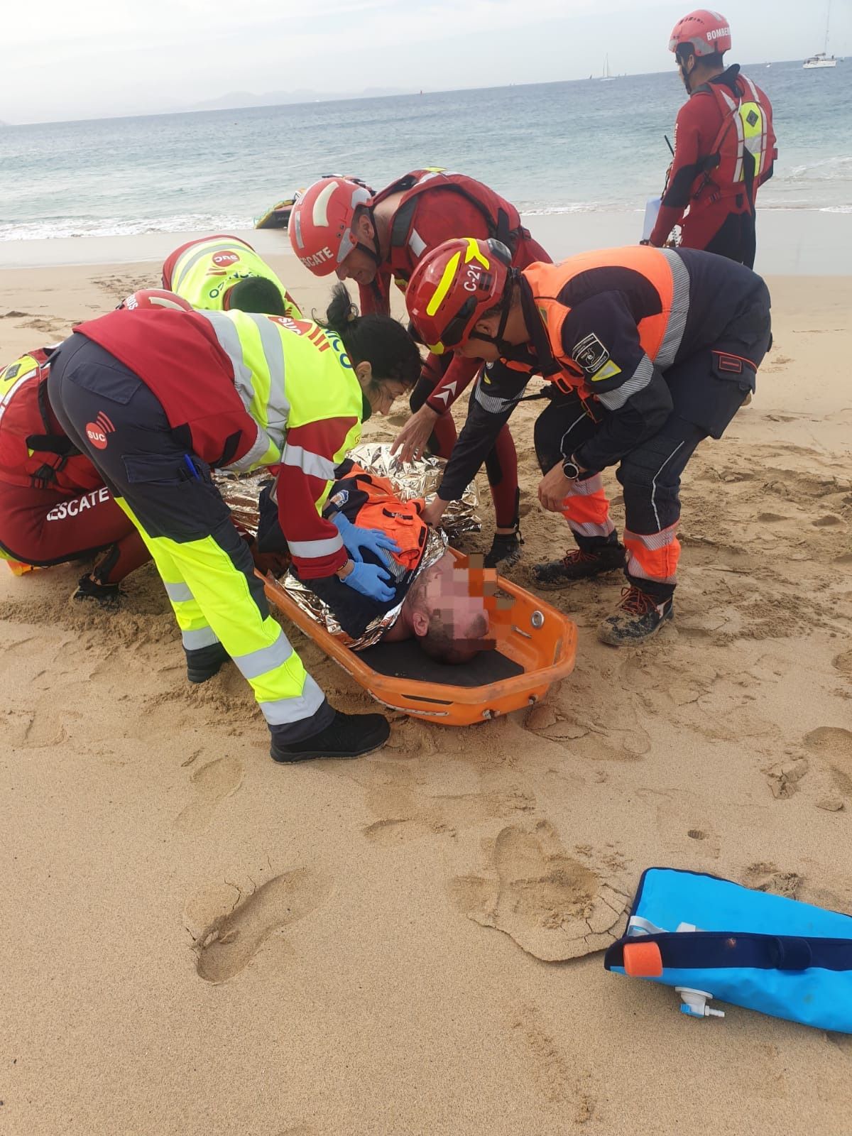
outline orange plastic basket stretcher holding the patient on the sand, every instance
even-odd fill
[[[303,611],[272,574],[262,578],[269,602],[368,694],[415,718],[442,726],[486,721],[533,705],[574,670],[576,625],[557,608],[500,576],[499,587],[515,602],[499,650],[484,651],[461,666],[427,659],[410,641],[351,651]]]

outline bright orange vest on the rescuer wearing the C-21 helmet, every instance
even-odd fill
[[[625,249],[599,249],[594,252],[582,252],[569,257],[559,265],[548,265],[542,261],[521,269],[521,275],[533,291],[535,308],[548,333],[553,359],[561,369],[561,375],[550,376],[562,391],[577,391],[580,398],[591,399],[592,391],[586,382],[585,373],[568,358],[562,344],[562,324],[570,308],[557,296],[569,281],[591,268],[630,268],[649,281],[660,296],[660,312],[641,319],[636,329],[640,343],[645,354],[654,360],[662,345],[671,315],[671,302],[675,295],[675,282],[671,268],[665,252],[650,245],[628,245]]]

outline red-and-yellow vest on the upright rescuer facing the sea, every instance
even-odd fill
[[[745,75],[737,76],[736,89],[738,98],[724,83],[707,83],[701,89],[712,94],[721,115],[721,126],[710,150],[710,159],[715,159],[718,154],[719,162],[708,168],[708,189],[711,190],[709,195],[713,200],[733,198],[746,192],[749,186],[743,160],[747,149],[754,158],[754,178],[751,192],[746,192],[750,204],[753,206],[760,177],[772,164],[775,150],[772,115],[767,97]],[[754,107],[750,107],[751,103],[754,103]],[[762,122],[755,123],[755,126],[761,127],[757,134],[746,136],[750,115],[755,115]],[[708,192],[699,190],[695,197],[705,198]]]

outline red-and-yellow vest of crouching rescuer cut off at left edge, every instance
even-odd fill
[[[0,481],[85,493],[103,478],[89,458],[65,452],[70,443],[47,398],[47,359],[48,352],[37,349],[0,371]]]

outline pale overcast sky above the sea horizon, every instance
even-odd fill
[[[641,0],[18,0],[0,119],[181,110],[229,91],[446,90],[665,70],[687,3]],[[726,0],[733,62],[822,49],[826,0]],[[282,15],[286,12],[286,15]],[[852,57],[852,0],[829,51]],[[852,75],[852,58],[846,64]],[[546,109],[542,108],[546,114]]]

